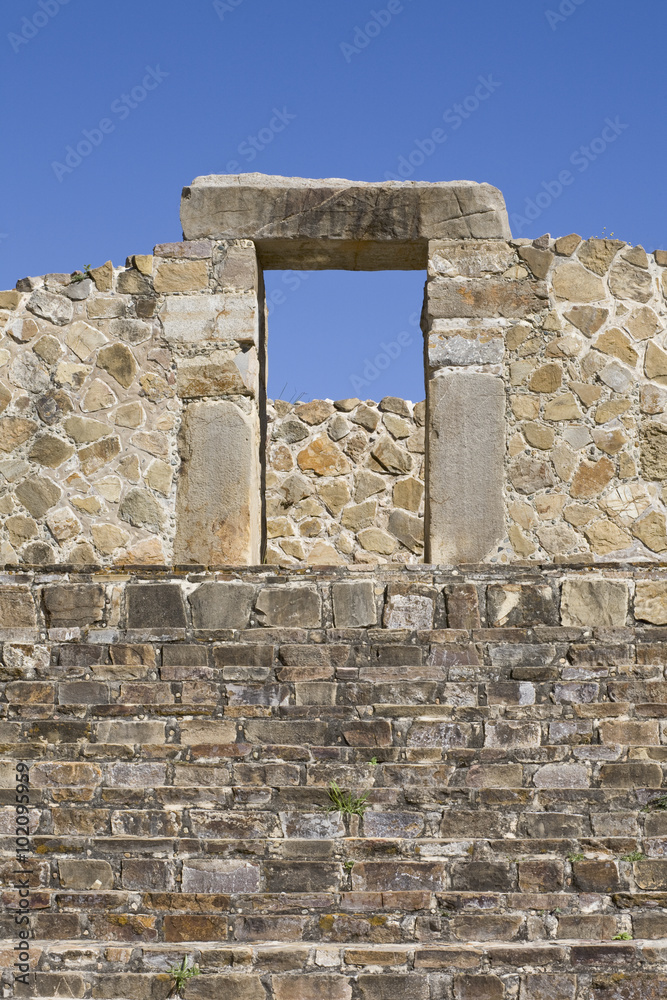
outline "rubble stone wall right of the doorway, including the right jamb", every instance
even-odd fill
[[[441,241],[429,255],[432,561],[660,559],[665,252],[572,235]],[[463,451],[453,415],[487,434]],[[493,524],[484,551],[475,523]]]

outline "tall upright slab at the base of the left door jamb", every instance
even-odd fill
[[[177,563],[259,563],[259,427],[233,403],[191,403],[179,447]]]

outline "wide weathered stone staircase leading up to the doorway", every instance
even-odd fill
[[[17,575],[3,967],[16,760],[33,939],[5,995],[161,1000],[187,956],[191,1000],[667,996],[667,631],[562,624],[558,568],[436,570]],[[245,628],[196,618],[202,580],[252,590]]]

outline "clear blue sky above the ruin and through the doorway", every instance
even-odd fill
[[[666,37],[665,0],[3,0],[0,288],[179,239],[181,187],[245,170],[488,181],[515,235],[662,248]],[[270,394],[421,399],[423,280],[270,274]]]

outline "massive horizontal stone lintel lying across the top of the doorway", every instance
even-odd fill
[[[210,174],[183,189],[186,240],[252,239],[265,268],[425,269],[428,241],[508,239],[501,192],[474,181]]]

